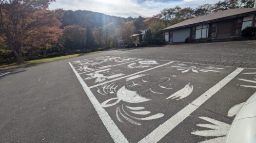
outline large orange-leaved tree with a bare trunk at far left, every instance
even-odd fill
[[[24,45],[42,46],[61,35],[61,10],[48,10],[54,0],[0,0],[0,34],[23,63]]]

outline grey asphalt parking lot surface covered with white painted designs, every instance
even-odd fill
[[[198,45],[192,47],[204,44]],[[238,60],[249,65],[256,57],[246,55],[256,50],[243,45],[239,48],[247,51],[241,50]],[[0,141],[223,142],[237,109],[256,94],[256,69],[207,64],[204,48],[197,57],[182,46],[159,47],[158,53],[157,48],[106,51],[1,71]],[[206,63],[193,63],[198,58]]]

